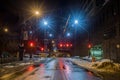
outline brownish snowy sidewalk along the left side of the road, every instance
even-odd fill
[[[32,63],[24,61],[16,61],[0,65],[0,80],[6,80],[15,73],[24,71]]]

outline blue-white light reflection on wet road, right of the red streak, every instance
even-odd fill
[[[64,70],[67,80],[101,80],[92,72],[73,64],[72,62],[65,62],[66,70]]]

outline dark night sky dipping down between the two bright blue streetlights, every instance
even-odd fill
[[[84,0],[1,0],[0,25],[9,25],[15,29],[20,15],[29,15],[31,8],[42,10],[42,14],[52,15],[52,25],[59,34],[65,26],[67,18],[75,11],[81,11]],[[45,16],[44,15],[44,16]]]

